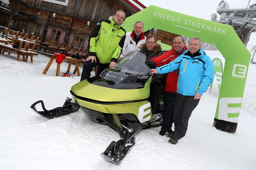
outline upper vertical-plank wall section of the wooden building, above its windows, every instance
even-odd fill
[[[117,9],[124,10],[118,0],[69,0],[68,6],[58,5],[43,0],[22,0],[27,6],[74,16],[89,21],[107,19]],[[126,10],[127,11],[127,10]],[[128,12],[128,16],[136,11]]]

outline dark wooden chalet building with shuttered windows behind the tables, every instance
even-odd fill
[[[84,50],[98,21],[118,9],[130,16],[145,8],[137,0],[137,5],[131,0],[9,0],[8,5],[1,1],[0,26]]]

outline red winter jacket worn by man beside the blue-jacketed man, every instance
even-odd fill
[[[185,46],[184,48],[186,51],[187,46]],[[173,49],[173,46],[172,46],[172,49]],[[168,64],[169,62],[171,62],[172,60],[174,60],[178,57],[178,55],[172,49],[170,51],[165,52],[164,54],[160,55],[159,57],[153,58],[151,61],[156,62],[156,67],[160,67],[165,64]],[[165,78],[165,91],[166,92],[176,93],[178,76],[179,76],[179,73],[177,72],[177,70],[175,70],[173,72],[169,72],[166,75],[166,78]]]

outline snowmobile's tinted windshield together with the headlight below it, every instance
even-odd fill
[[[141,52],[129,52],[117,61],[116,69],[106,69],[101,73],[100,77],[114,82],[123,82],[129,75],[148,75],[150,69],[145,64],[146,59],[146,55]]]

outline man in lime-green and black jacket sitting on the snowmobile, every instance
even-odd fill
[[[89,38],[89,57],[83,66],[80,81],[89,78],[92,68],[97,65],[98,75],[107,67],[116,67],[125,40],[126,31],[122,27],[125,17],[123,10],[117,10],[113,18],[98,22],[93,28]]]

